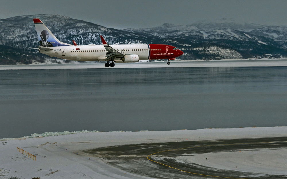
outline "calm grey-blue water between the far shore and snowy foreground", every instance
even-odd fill
[[[287,125],[287,67],[0,71],[0,138]]]

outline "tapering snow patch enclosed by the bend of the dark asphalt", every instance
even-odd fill
[[[252,149],[243,151],[193,154],[177,157],[178,162],[193,162],[212,168],[253,172],[269,175],[287,174],[287,153],[285,149]],[[207,158],[208,160],[203,160]]]

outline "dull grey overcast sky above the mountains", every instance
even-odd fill
[[[232,18],[238,22],[287,25],[286,0],[10,0],[0,19],[19,15],[62,14],[111,28],[149,28],[164,23]]]

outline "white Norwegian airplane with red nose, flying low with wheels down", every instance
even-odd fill
[[[33,19],[40,46],[40,53],[73,61],[106,61],[105,67],[114,67],[115,63],[139,62],[139,60],[167,59],[175,60],[183,51],[164,44],[120,44],[108,45],[100,36],[103,45],[73,45],[60,42],[40,19]],[[30,47],[32,48],[32,47]],[[109,63],[111,62],[111,63]]]

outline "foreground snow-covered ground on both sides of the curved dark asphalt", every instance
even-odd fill
[[[0,178],[32,178],[36,176],[41,177],[41,179],[148,178],[110,166],[100,160],[99,157],[92,157],[87,153],[82,152],[82,150],[152,142],[286,137],[287,127],[139,132],[82,132],[83,131],[79,133],[73,132],[74,134],[70,135],[67,135],[69,132],[44,134],[44,136],[52,135],[49,137],[42,137],[41,134],[34,134],[34,138],[23,137],[15,140],[1,139]],[[16,147],[20,147],[24,149],[24,151],[36,155],[36,161],[26,156],[26,153],[21,154],[18,152]],[[210,153],[208,155],[210,166],[222,169],[230,169],[231,166],[236,165],[246,166],[238,170],[247,171],[248,166],[252,165],[250,160],[252,156],[259,161],[257,165],[260,165],[259,168],[261,170],[271,171],[276,166],[281,166],[281,168],[284,168],[285,166],[286,169],[286,151],[283,149],[261,150],[255,153],[252,151],[243,151],[239,154],[237,152],[236,155],[233,155],[232,152],[222,153],[222,159],[220,159],[220,161],[213,160],[214,154]],[[196,157],[200,156],[195,156],[192,161],[200,163],[200,160]],[[240,160],[236,160],[238,157],[240,157]],[[236,163],[234,163],[234,161],[236,161]],[[280,173],[280,171],[278,173]]]

